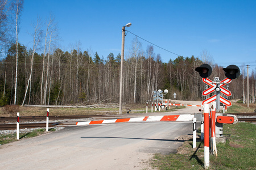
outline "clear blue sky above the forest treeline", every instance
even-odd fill
[[[25,0],[19,42],[32,46],[31,24],[52,13],[59,25],[60,49],[81,42],[81,50],[100,57],[121,53],[121,29],[184,57],[205,50],[214,63],[256,68],[256,1],[57,1]],[[125,53],[135,36],[125,36]],[[146,50],[148,42],[142,42]],[[163,62],[177,56],[154,46]]]

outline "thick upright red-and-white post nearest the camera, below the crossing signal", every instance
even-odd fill
[[[204,104],[204,168],[210,166],[209,104]]]

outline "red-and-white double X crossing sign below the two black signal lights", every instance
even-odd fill
[[[231,81],[232,81],[232,80],[229,79],[229,78],[226,78],[226,79],[224,79],[224,80],[221,80],[221,82],[220,82],[220,84],[221,84],[221,85],[220,85],[221,91],[220,91],[220,92],[221,92],[222,94],[224,94],[224,95],[226,95],[226,96],[231,96],[231,92],[230,92],[229,90],[227,90],[226,88],[223,87],[223,86],[226,85],[226,83],[230,83]],[[208,85],[210,86],[207,90],[203,91],[203,95],[204,95],[204,96],[207,96],[207,95],[209,95],[210,93],[212,93],[212,92],[215,91],[215,88],[217,87],[217,83],[213,83],[212,80],[210,80],[210,79],[208,79],[208,78],[203,78],[203,82],[204,82],[205,84],[208,84]],[[216,100],[216,95],[214,95],[214,96],[212,96],[212,97],[209,97],[208,99],[204,100],[204,101],[203,101],[203,104],[204,104],[204,103],[211,103],[211,102],[213,102],[213,101],[215,101],[215,100]],[[229,100],[227,100],[227,99],[225,99],[224,97],[221,97],[221,96],[220,96],[220,102],[223,103],[223,104],[225,104],[225,105],[228,105],[228,106],[232,105]]]

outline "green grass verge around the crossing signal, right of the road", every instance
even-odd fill
[[[209,169],[256,169],[256,126],[247,122],[224,124],[226,143],[217,144],[218,156],[210,155]],[[179,153],[182,154],[179,154]],[[204,169],[204,143],[184,142],[177,154],[156,154],[151,161],[155,169]]]

